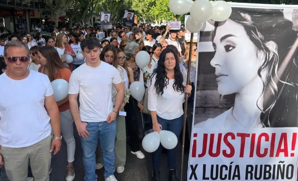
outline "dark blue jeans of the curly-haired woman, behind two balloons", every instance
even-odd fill
[[[183,115],[176,119],[162,119],[157,116],[157,122],[162,125],[162,130],[172,131],[177,137],[183,127]],[[158,149],[152,153],[153,170],[159,171],[160,161],[162,156],[162,144],[159,145]],[[167,150],[168,169],[176,169],[176,158],[177,158],[177,146],[173,149]]]

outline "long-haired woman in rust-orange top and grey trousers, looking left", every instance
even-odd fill
[[[64,79],[69,82],[70,75],[72,72],[67,68],[61,61],[58,52],[52,46],[44,46],[38,50],[38,59],[41,67],[38,72],[46,74],[50,81],[58,81],[57,79]],[[53,85],[53,84],[52,84]],[[75,169],[73,162],[75,160],[75,137],[73,134],[73,119],[69,111],[69,100],[68,96],[58,99],[61,94],[68,92],[68,84],[64,86],[63,92],[54,92],[55,100],[58,105],[61,119],[61,133],[66,142],[67,148],[67,167],[66,167],[66,181],[72,181],[75,179]],[[60,86],[60,85],[59,85]],[[61,81],[62,86],[62,81]],[[53,86],[53,89],[55,87]],[[60,94],[60,95],[59,95]]]

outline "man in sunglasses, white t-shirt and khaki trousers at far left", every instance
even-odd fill
[[[49,181],[51,153],[61,146],[60,117],[49,78],[27,68],[29,57],[19,41],[4,47],[8,70],[0,75],[5,85],[0,86],[5,95],[0,99],[0,166],[5,163],[11,181],[24,180],[30,160],[35,180]]]

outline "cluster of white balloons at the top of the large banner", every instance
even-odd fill
[[[170,0],[169,8],[177,15],[190,12],[185,26],[192,33],[197,33],[203,27],[204,22],[210,19],[226,21],[232,13],[232,8],[226,1]]]

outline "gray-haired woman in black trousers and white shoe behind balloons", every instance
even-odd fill
[[[136,64],[136,54],[139,52],[139,45],[136,42],[130,42],[125,46],[126,64],[134,72],[134,81],[140,81],[144,83],[142,70]],[[131,153],[136,155],[137,158],[143,159],[145,155],[141,152],[139,146],[139,127],[138,122],[142,120],[141,111],[143,105],[141,102],[134,99],[132,96],[129,98],[129,103],[124,107],[126,111],[126,125],[129,135],[129,143],[131,147]]]

